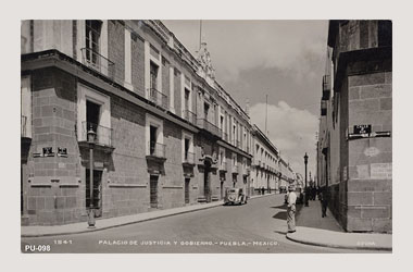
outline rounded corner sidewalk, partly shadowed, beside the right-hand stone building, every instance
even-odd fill
[[[329,210],[322,218],[321,201],[309,201],[296,214],[297,232],[287,238],[297,243],[347,249],[392,250],[391,234],[346,233]]]

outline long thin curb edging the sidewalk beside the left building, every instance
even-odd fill
[[[267,197],[267,196],[273,196],[273,195],[274,194],[259,195],[259,196],[250,197],[250,199],[255,199],[255,198],[261,198],[261,197]],[[151,220],[155,220],[155,219],[168,218],[168,217],[184,214],[184,213],[189,213],[189,212],[193,212],[193,211],[212,209],[212,208],[216,208],[216,207],[221,207],[221,206],[223,206],[223,201],[222,200],[218,201],[218,203],[213,205],[213,206],[209,206],[209,207],[199,207],[199,208],[193,209],[193,210],[179,211],[179,212],[174,212],[174,213],[170,213],[170,214],[163,214],[163,215],[158,215],[158,217],[153,217],[153,218],[148,218],[148,219],[140,219],[140,220],[132,221],[132,222],[126,222],[126,223],[121,223],[121,224],[115,224],[115,225],[109,225],[109,226],[103,226],[103,227],[99,227],[99,228],[96,227],[96,228],[88,228],[88,230],[84,230],[84,231],[73,231],[73,232],[62,232],[62,233],[22,234],[21,237],[22,238],[36,238],[36,237],[62,236],[62,235],[72,235],[72,234],[83,234],[83,233],[99,232],[99,231],[103,231],[103,230],[109,230],[109,228],[114,228],[114,227],[125,226],[125,225],[132,225],[132,224],[141,223],[141,222],[146,222],[146,221],[151,221]]]

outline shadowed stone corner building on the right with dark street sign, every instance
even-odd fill
[[[391,22],[330,21],[317,178],[349,232],[392,231]]]

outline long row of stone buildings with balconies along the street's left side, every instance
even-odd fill
[[[21,30],[22,224],[86,221],[91,194],[95,215],[112,218],[296,180],[215,81],[204,42],[193,57],[150,20],[24,21]]]

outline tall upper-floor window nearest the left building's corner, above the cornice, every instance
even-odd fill
[[[86,20],[86,59],[88,62],[99,65],[99,40],[102,22],[97,20]]]

